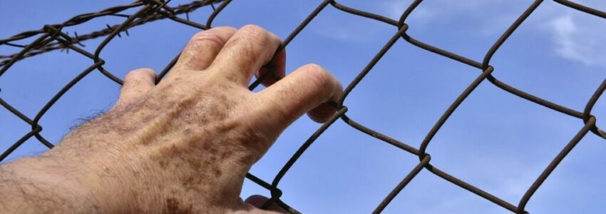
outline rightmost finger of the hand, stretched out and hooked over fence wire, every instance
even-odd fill
[[[343,88],[337,78],[316,64],[308,64],[258,95],[263,105],[262,111],[277,113],[276,119],[279,121],[276,122],[285,127],[308,111],[314,121],[327,121],[337,109],[322,103],[338,101],[342,93]]]

